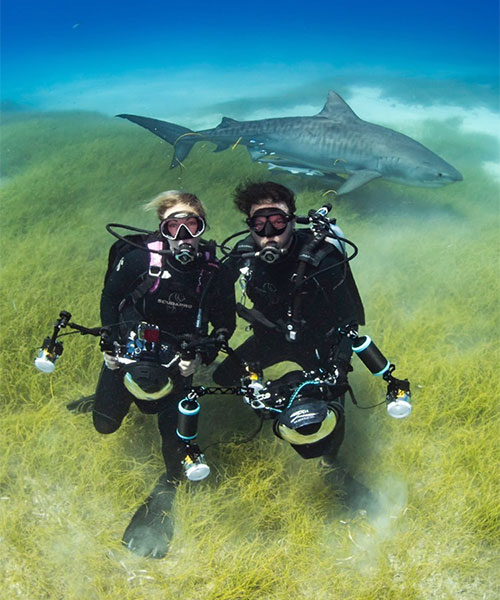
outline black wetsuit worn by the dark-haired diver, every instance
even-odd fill
[[[328,369],[332,365],[344,374],[349,370],[352,345],[337,329],[347,324],[364,324],[364,310],[349,265],[343,261],[340,251],[329,244],[325,246],[324,242],[318,249],[318,252],[324,251],[322,257],[317,255],[319,264],[306,266],[304,277],[310,279],[298,288],[297,294],[293,293],[299,255],[311,240],[309,230],[297,230],[287,254],[271,264],[260,259],[252,259],[248,263],[237,256],[227,261],[233,280],[240,276],[242,267],[248,266],[246,294],[254,308],[277,327],[254,322],[253,335],[216,369],[213,378],[218,384],[234,385],[239,381],[244,374],[242,359],[262,369],[282,361],[292,361],[304,370]],[[240,244],[248,246],[249,243],[251,238]],[[323,272],[327,267],[332,268]],[[294,317],[300,324],[296,324],[295,341],[289,341],[286,335],[287,313],[298,294],[300,302],[298,306],[295,303]],[[327,454],[336,454],[343,436],[342,420]]]

